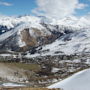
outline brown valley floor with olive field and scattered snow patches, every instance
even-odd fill
[[[23,57],[23,56],[22,56]],[[7,59],[7,58],[6,58]],[[47,87],[90,68],[89,55],[57,55],[0,60],[0,81],[29,87]],[[3,68],[3,71],[2,71]]]

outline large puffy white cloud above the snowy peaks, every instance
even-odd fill
[[[37,15],[63,18],[73,15],[76,9],[84,9],[87,5],[79,0],[36,0],[37,8],[32,10]]]

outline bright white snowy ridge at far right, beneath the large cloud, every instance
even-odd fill
[[[77,18],[74,16],[70,16],[70,17],[63,18],[61,20],[57,20],[55,23],[58,25],[64,25],[67,27],[71,26],[73,28],[90,27],[90,19],[87,19],[86,17]]]

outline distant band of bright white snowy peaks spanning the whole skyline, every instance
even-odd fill
[[[65,17],[60,20],[55,20],[48,17],[35,17],[35,16],[20,16],[20,17],[10,17],[10,16],[0,16],[0,25],[7,26],[8,28],[14,28],[20,23],[46,23],[52,25],[63,25],[63,26],[71,26],[73,28],[84,28],[90,27],[90,20],[86,17],[77,18],[74,16]]]

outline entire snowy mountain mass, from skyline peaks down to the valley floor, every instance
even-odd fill
[[[90,50],[90,20],[66,17],[0,17],[0,50],[29,51],[29,56],[76,54]],[[41,49],[40,49],[41,48]]]

